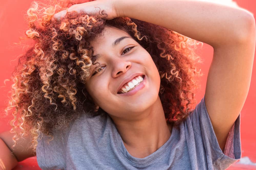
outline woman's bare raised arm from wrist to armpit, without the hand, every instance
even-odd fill
[[[154,23],[211,45],[205,103],[222,151],[250,87],[255,20],[242,8],[193,0],[120,0],[118,16]]]

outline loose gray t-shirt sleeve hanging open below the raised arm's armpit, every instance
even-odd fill
[[[228,134],[224,153],[214,133],[204,97],[189,117],[195,136],[202,138],[207,164],[211,163],[214,169],[226,169],[241,158],[240,114]]]

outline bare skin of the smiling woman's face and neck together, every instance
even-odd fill
[[[102,55],[97,60],[102,72],[91,76],[85,86],[95,103],[114,121],[127,151],[132,156],[144,158],[170,138],[172,128],[166,123],[158,95],[160,76],[155,63],[132,38],[125,38],[115,48],[112,47],[112,43],[122,36],[130,35],[123,30],[106,27],[103,37],[90,42],[94,54]],[[131,96],[117,94],[121,82],[133,73],[145,75],[145,87]]]

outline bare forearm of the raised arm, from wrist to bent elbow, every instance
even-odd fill
[[[251,14],[196,0],[118,0],[119,16],[169,28],[213,47],[247,36]]]

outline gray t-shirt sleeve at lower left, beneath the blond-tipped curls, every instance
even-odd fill
[[[48,169],[65,169],[66,168],[66,146],[70,127],[65,130],[54,130],[51,135],[53,140],[43,134],[42,139],[38,139],[36,147],[36,159],[38,166],[43,170]],[[41,137],[41,136],[39,136]]]

